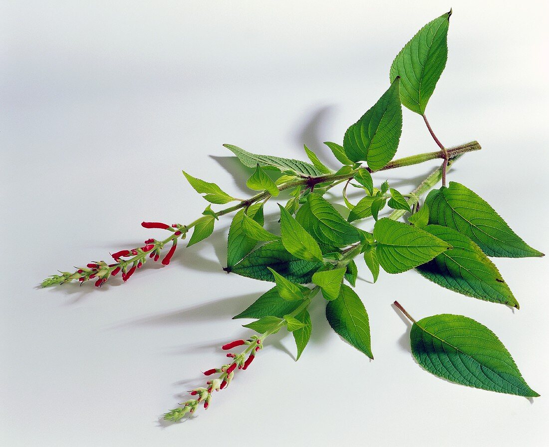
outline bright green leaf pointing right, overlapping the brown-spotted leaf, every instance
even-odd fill
[[[432,260],[451,245],[433,234],[384,217],[374,226],[376,254],[387,273],[400,273]]]

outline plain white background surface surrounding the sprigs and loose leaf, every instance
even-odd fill
[[[194,220],[206,203],[181,169],[248,194],[249,170],[222,143],[294,158],[306,143],[335,167],[321,142],[341,142],[388,87],[395,54],[450,6],[449,60],[427,114],[447,146],[483,146],[450,180],[547,252],[546,2],[3,1],[0,444],[547,445],[547,259],[495,259],[515,312],[414,271],[373,285],[359,261],[376,360],[341,342],[319,299],[299,362],[277,335],[208,411],[173,425],[161,414],[223,363],[220,345],[248,333],[231,317],[270,287],[221,270],[230,219],[126,284],[36,287],[162,235],[142,220]],[[398,156],[431,150],[405,109]],[[375,179],[407,192],[435,166]],[[395,299],[417,318],[483,322],[541,398],[422,371]]]

